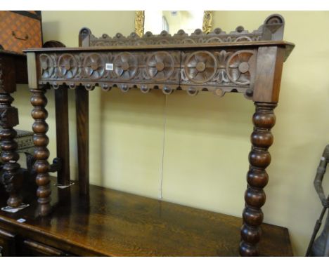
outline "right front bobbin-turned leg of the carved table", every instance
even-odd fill
[[[259,255],[257,244],[261,236],[260,225],[263,222],[261,208],[266,200],[263,188],[269,181],[265,169],[271,162],[268,149],[273,143],[271,128],[276,123],[276,116],[273,113],[276,103],[255,102],[254,105],[256,112],[252,117],[254,131],[251,135],[252,150],[249,154],[248,187],[245,191],[244,224],[241,228],[241,256]]]

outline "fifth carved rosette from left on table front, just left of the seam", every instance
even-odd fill
[[[164,81],[174,72],[175,62],[172,55],[160,51],[150,55],[146,62],[148,74],[156,81]]]

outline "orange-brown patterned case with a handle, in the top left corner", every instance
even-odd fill
[[[26,48],[41,48],[40,20],[10,11],[0,11],[0,22],[0,44],[5,50],[21,53]]]

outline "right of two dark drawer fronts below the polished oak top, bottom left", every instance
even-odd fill
[[[32,241],[26,239],[22,241],[22,255],[24,256],[35,256],[35,257],[65,257],[71,256],[70,253],[66,253],[63,250],[59,250],[58,248],[53,248],[51,246],[47,246],[43,243],[39,243],[37,241]]]

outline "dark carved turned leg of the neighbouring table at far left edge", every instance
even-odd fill
[[[18,207],[22,203],[20,189],[22,186],[22,175],[18,173],[20,165],[17,163],[19,159],[16,137],[16,130],[13,126],[18,125],[18,110],[11,107],[13,98],[9,93],[0,93],[0,118],[2,130],[1,137],[1,159],[4,161],[4,175],[2,177],[6,191],[9,194],[7,201],[8,206]]]

